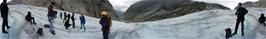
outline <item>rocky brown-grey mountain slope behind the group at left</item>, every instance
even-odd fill
[[[101,2],[97,0],[12,0],[9,4],[26,4],[39,7],[48,7],[50,2],[56,3],[56,9],[72,13],[84,14],[99,18],[101,10],[106,9],[113,19],[118,19],[113,6],[108,0]],[[99,7],[97,4],[101,4]]]

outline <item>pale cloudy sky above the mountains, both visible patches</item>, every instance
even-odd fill
[[[141,1],[141,0],[109,0],[109,1],[111,2],[115,10],[125,12],[129,8],[130,5],[138,1]],[[218,3],[230,9],[233,9],[235,6],[237,6],[239,2],[241,3],[247,2],[247,1],[255,2],[258,0],[194,0],[194,1]]]

